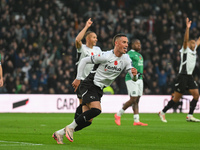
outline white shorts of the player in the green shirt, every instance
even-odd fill
[[[138,79],[136,82],[132,80],[126,81],[128,95],[131,97],[142,96],[143,94],[143,80]]]

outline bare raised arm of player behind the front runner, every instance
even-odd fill
[[[87,31],[87,29],[92,25],[92,21],[91,21],[91,18],[88,19],[88,21],[86,22],[85,24],[85,27],[81,30],[81,32],[79,32],[79,34],[77,35],[76,37],[76,41],[75,41],[75,45],[76,45],[76,48],[80,48],[81,45],[82,45],[82,39]]]

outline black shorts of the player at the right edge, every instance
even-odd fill
[[[186,90],[198,89],[192,75],[179,74],[176,78],[175,91],[184,94]]]

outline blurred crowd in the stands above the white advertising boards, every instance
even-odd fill
[[[141,40],[146,95],[173,92],[186,17],[190,38],[200,36],[199,0],[1,0],[0,7],[0,93],[74,94],[74,42],[88,18],[104,51],[117,33]],[[198,84],[199,67],[198,58]],[[127,94],[124,76],[111,85],[115,94]]]

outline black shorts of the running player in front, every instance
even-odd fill
[[[103,95],[103,90],[96,86],[93,81],[84,80],[80,85],[80,93],[82,95],[83,105],[93,101],[100,101]]]

